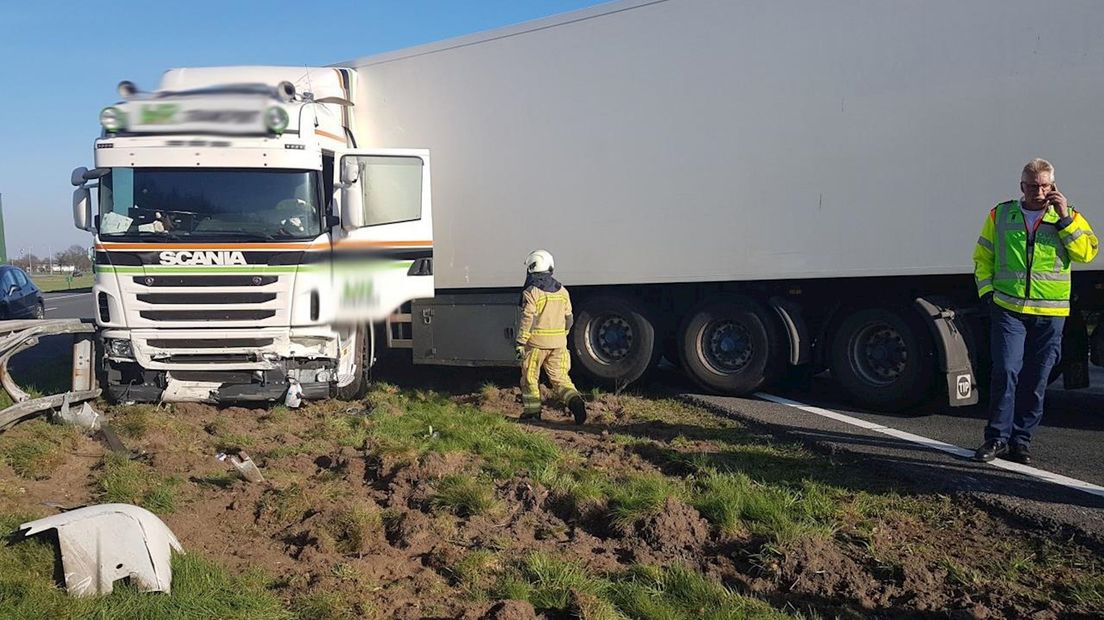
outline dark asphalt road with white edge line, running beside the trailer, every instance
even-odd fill
[[[46,317],[91,318],[91,292],[47,293]],[[68,364],[70,336],[51,336],[12,361],[17,378],[20,368],[35,364]],[[1092,367],[1094,387],[1065,391],[1061,382],[1047,395],[1042,426],[1036,434],[1033,467],[1079,481],[1104,487],[1104,462],[1100,446],[1104,442],[1104,368]],[[984,405],[967,408],[927,406],[902,415],[889,415],[849,404],[825,376],[813,381],[802,392],[774,392],[782,397],[850,416],[868,426],[891,429],[875,431],[830,419],[764,397],[728,397],[700,394],[678,373],[661,371],[658,378],[665,391],[682,394],[713,410],[740,417],[781,435],[853,456],[869,467],[884,468],[888,475],[905,477],[923,487],[940,491],[967,491],[1032,520],[1072,525],[1104,541],[1104,496],[1073,490],[1068,485],[1040,480],[1030,472],[1009,471],[991,464],[972,462],[964,456],[917,445],[903,431],[973,450],[981,441],[986,423]],[[1015,469],[1015,466],[1013,466]]]

